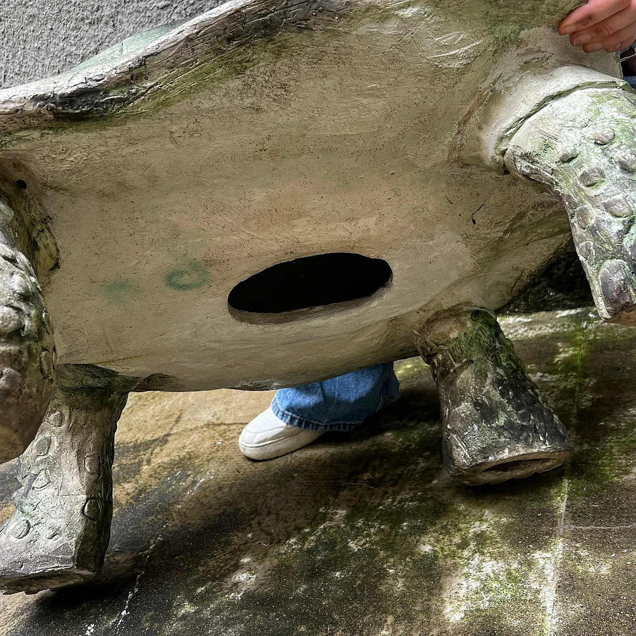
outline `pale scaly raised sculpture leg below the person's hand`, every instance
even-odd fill
[[[636,95],[587,88],[523,123],[506,151],[512,174],[559,198],[598,314],[636,325]]]

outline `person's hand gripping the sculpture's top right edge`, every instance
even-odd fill
[[[628,48],[636,39],[636,0],[590,0],[563,18],[558,32],[586,53]]]

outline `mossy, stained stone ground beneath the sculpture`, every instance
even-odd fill
[[[568,466],[450,480],[418,359],[396,364],[403,398],[368,425],[270,462],[237,437],[272,392],[134,394],[104,573],[0,598],[0,634],[632,636],[636,329],[588,309],[502,326],[569,429]]]

